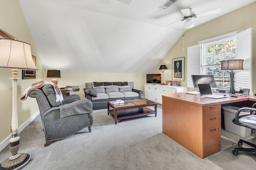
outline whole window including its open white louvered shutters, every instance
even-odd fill
[[[235,72],[235,87],[252,89],[252,28],[203,40],[188,47],[187,86],[194,87],[193,74],[213,74],[220,88],[228,88],[230,71],[220,70],[222,58],[244,60],[244,70]]]

